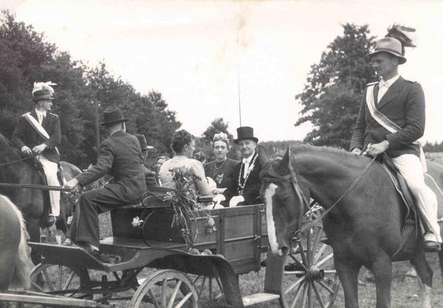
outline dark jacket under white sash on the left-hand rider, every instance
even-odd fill
[[[35,110],[30,111],[30,115],[33,116],[38,122]],[[28,146],[30,150],[33,150],[33,147],[36,145],[45,143],[48,147],[46,147],[46,149],[43,151],[44,156],[46,156],[49,161],[59,163],[60,155],[57,154],[55,147],[60,145],[60,142],[62,141],[62,137],[60,135],[60,119],[56,114],[51,114],[48,112],[42,121],[42,127],[49,135],[49,139],[46,141],[42,136],[40,136],[34,127],[28,123],[28,120],[26,120],[24,116],[21,116],[17,126],[14,129],[14,132],[12,133],[11,142],[19,150],[21,150],[21,147],[24,145]]]

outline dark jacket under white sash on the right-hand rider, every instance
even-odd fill
[[[374,87],[374,101],[377,102],[379,85]],[[368,91],[368,88],[366,88]],[[423,136],[425,125],[424,93],[418,82],[410,82],[399,77],[386,91],[380,102],[376,103],[377,109],[392,122],[401,127],[395,133],[379,125],[370,115],[366,105],[366,91],[356,120],[350,150],[359,147],[365,150],[368,143],[375,144],[387,140],[389,149],[386,154],[397,157],[402,154],[415,154],[419,156],[419,146],[413,144]]]

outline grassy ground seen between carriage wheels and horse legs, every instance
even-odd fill
[[[111,235],[111,221],[109,214],[100,215],[100,234],[105,237]],[[433,269],[433,307],[443,307],[443,284],[440,275],[440,266],[438,264],[437,254],[429,254],[428,262]],[[405,278],[405,273],[409,269],[409,262],[396,262],[393,266],[393,281],[392,281],[392,307],[398,308],[415,308],[420,307],[419,285],[417,280],[413,278]],[[155,269],[144,270],[138,278],[152,273]],[[264,287],[264,273],[265,268],[255,273],[247,273],[239,276],[239,286],[242,291],[242,295],[246,296],[253,293],[259,293]],[[102,273],[92,272],[91,276],[96,280],[100,280]],[[359,276],[359,303],[360,307],[375,307],[375,285],[372,282],[367,281],[369,277],[368,270],[361,269]],[[111,277],[111,276],[109,276]],[[218,287],[215,287],[215,293],[217,293]],[[132,296],[134,292],[128,291],[120,294],[120,296]],[[204,291],[202,298],[208,298],[207,291]],[[114,303],[114,302],[113,302]],[[116,307],[127,307],[129,301],[115,302]],[[223,300],[201,300],[200,307],[212,308],[212,307],[224,307]],[[273,302],[266,302],[257,304],[252,307],[280,307],[278,300]],[[315,306],[314,306],[315,307]],[[344,307],[343,289],[340,288],[338,298],[334,304],[334,307]]]

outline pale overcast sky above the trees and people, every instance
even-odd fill
[[[368,24],[377,37],[390,24],[405,24],[417,29],[418,47],[406,51],[400,73],[424,88],[424,138],[443,139],[442,1],[3,0],[0,7],[73,59],[105,62],[141,93],[160,91],[196,136],[217,117],[235,135],[240,98],[242,125],[263,141],[310,131],[293,126],[300,116],[294,96],[343,33],[341,24]]]

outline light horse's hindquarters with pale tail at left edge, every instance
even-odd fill
[[[30,286],[32,264],[26,237],[20,210],[8,197],[0,194],[0,292],[7,291],[10,286]],[[3,307],[1,301],[0,307]]]

